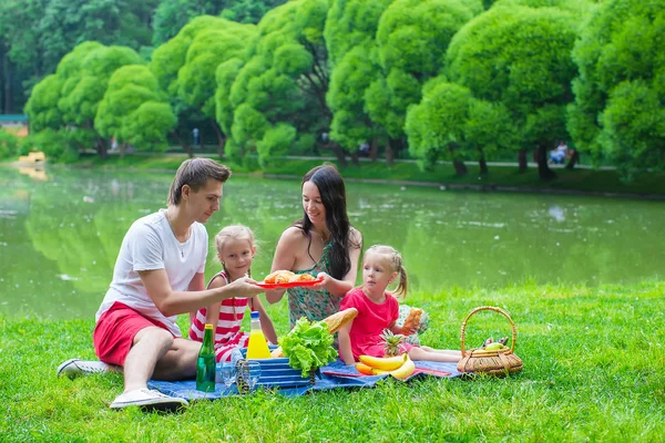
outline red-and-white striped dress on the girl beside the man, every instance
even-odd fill
[[[228,276],[221,271],[217,276],[224,277],[228,285]],[[211,284],[208,282],[208,287]],[[248,298],[235,297],[222,301],[219,307],[219,319],[215,328],[215,354],[217,362],[231,361],[231,352],[236,348],[247,348],[249,334],[241,331],[241,323],[245,316],[245,309],[249,302]],[[205,329],[206,309],[196,311],[192,327],[190,328],[190,339],[203,341],[203,331]]]

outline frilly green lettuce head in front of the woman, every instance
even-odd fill
[[[289,333],[279,339],[288,365],[309,377],[313,369],[321,368],[337,358],[332,334],[325,321],[309,321],[301,317]]]

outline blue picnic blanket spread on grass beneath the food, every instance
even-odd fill
[[[439,378],[454,378],[460,375],[456,363],[438,363],[433,361],[417,361],[415,363],[416,371],[405,381],[426,375]],[[355,367],[347,367],[341,360],[337,360],[320,369],[320,374],[316,378],[314,384],[297,388],[282,388],[277,390],[277,392],[283,395],[297,396],[307,392],[325,391],[338,388],[372,388],[380,380],[387,377],[391,375],[364,375],[356,371]],[[215,400],[228,395],[238,395],[238,391],[235,385],[226,389],[223,383],[216,384],[215,392],[197,391],[196,381],[194,380],[175,382],[151,380],[147,382],[147,387],[150,389],[156,389],[166,395],[177,396],[185,400]],[[260,381],[258,388],[260,389]]]

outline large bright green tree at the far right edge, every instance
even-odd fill
[[[632,169],[665,166],[665,6],[608,0],[581,31],[567,127],[594,158]]]

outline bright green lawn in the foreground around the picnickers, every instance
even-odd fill
[[[0,440],[22,441],[663,441],[665,284],[600,288],[452,288],[415,293],[426,344],[459,348],[482,305],[507,309],[524,370],[508,379],[386,380],[375,389],[299,398],[273,392],[201,401],[180,414],[114,412],[122,377],[58,379],[71,357],[93,358],[92,320],[0,318]],[[270,307],[286,332],[285,302]],[[180,319],[184,324],[184,318]],[[473,316],[467,342],[509,334],[495,312]]]

